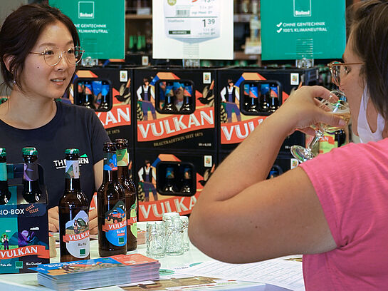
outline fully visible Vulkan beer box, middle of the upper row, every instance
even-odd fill
[[[135,150],[214,150],[214,68],[137,68]]]

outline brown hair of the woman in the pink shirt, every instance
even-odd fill
[[[365,62],[360,74],[369,98],[388,120],[388,1],[369,0],[350,6],[348,27],[352,49]]]

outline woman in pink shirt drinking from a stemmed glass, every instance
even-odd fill
[[[318,107],[316,98],[330,91],[298,89],[202,190],[189,236],[207,255],[256,262],[303,254],[306,290],[387,290],[388,1],[352,9],[344,63],[330,66],[350,104],[352,130],[369,143],[336,148],[266,180],[290,133],[315,123],[345,126]]]

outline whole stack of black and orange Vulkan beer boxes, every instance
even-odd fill
[[[206,181],[253,129],[291,91],[318,83],[316,68],[142,67],[80,69],[73,103],[83,105],[85,82],[96,114],[111,140],[127,138],[140,221],[162,214],[191,213]],[[108,98],[99,83],[109,84]],[[104,94],[106,95],[106,89]],[[103,97],[104,96],[104,97]],[[108,107],[100,104],[108,101]],[[87,103],[84,105],[88,105]],[[290,146],[305,146],[305,135],[289,136],[268,178],[295,168]]]

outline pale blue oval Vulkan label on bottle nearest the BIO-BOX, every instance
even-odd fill
[[[90,252],[88,213],[80,210],[73,220],[65,224],[65,227],[62,240],[66,243],[66,250],[70,255],[79,259],[88,257]]]

